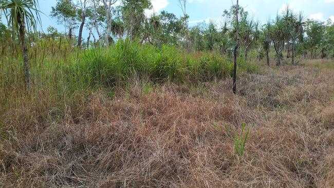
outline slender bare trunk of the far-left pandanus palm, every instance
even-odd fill
[[[22,44],[22,52],[23,52],[23,64],[25,70],[25,84],[27,89],[30,88],[30,74],[29,74],[29,57],[28,57],[28,48],[25,41],[25,26],[24,22],[21,21],[21,17],[18,16],[18,25],[20,25],[20,41]]]

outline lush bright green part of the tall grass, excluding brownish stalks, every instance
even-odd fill
[[[114,86],[134,75],[153,82],[211,81],[228,77],[233,70],[231,61],[217,53],[188,53],[175,46],[156,48],[127,40],[108,48],[86,50],[81,59],[65,71],[67,81],[88,83],[90,87]],[[239,70],[255,72],[256,67],[240,62]]]

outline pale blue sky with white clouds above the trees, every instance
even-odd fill
[[[162,10],[177,16],[182,14],[178,0],[151,0],[151,2],[153,9],[147,10],[147,15]],[[190,16],[189,25],[194,26],[201,22],[209,23],[210,21],[219,25],[224,21],[222,12],[229,9],[235,2],[236,0],[187,0],[186,12]],[[43,30],[46,31],[46,28],[52,25],[63,32],[64,26],[49,16],[51,7],[55,6],[56,0],[39,0],[39,4],[40,10],[45,14],[41,14]],[[303,11],[308,18],[320,21],[326,21],[330,18],[334,22],[334,0],[239,0],[239,4],[249,12],[249,15],[261,23],[265,23],[268,18],[274,18],[277,11],[280,12],[286,5],[289,5],[294,11]],[[83,37],[86,37],[87,34],[84,32]]]

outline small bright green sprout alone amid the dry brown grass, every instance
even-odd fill
[[[232,135],[229,127],[227,125],[225,125],[224,127],[227,131],[227,134],[232,138],[232,140],[234,142],[234,152],[235,152],[235,154],[239,157],[242,157],[244,155],[244,152],[245,152],[245,145],[246,145],[247,137],[248,137],[248,134],[249,134],[249,128],[247,128],[247,130],[246,130],[246,125],[245,125],[245,123],[243,123],[241,133],[238,134],[237,131],[234,129],[233,130],[234,135]]]

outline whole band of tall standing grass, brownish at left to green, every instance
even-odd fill
[[[32,88],[27,93],[22,55],[17,54],[8,48],[0,57],[0,115],[10,106],[43,97],[59,108],[56,111],[66,111],[67,102],[75,103],[78,96],[100,88],[124,87],[133,77],[152,84],[197,83],[228,78],[233,70],[229,58],[216,52],[187,52],[169,45],[157,48],[128,40],[80,50],[67,41],[42,40],[29,50]],[[238,73],[256,71],[257,65],[240,58]]]

